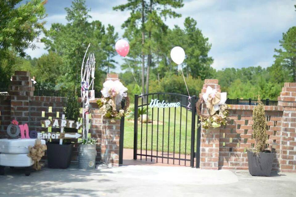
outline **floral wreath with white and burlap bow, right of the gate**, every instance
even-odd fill
[[[227,125],[228,105],[225,104],[226,99],[226,92],[220,93],[218,89],[208,86],[206,93],[196,103],[196,111],[200,120],[198,127],[202,126],[207,130]],[[209,115],[204,115],[200,111],[200,105],[203,101],[206,103]]]

